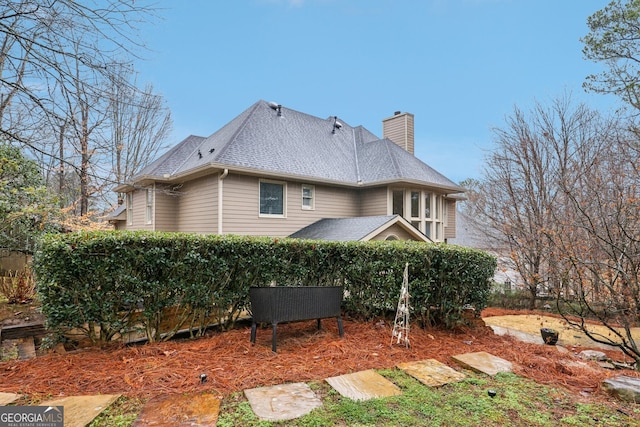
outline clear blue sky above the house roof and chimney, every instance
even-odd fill
[[[337,115],[381,136],[415,115],[416,156],[459,182],[479,178],[494,127],[586,94],[587,17],[606,0],[160,0],[136,64],[173,114],[171,145],[208,136],[254,102]]]

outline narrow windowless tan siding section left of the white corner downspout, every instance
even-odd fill
[[[224,183],[226,186],[226,181]],[[218,175],[185,183],[179,190],[177,231],[218,232]]]

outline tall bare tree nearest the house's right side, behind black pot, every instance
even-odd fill
[[[584,105],[572,107],[569,96],[551,108],[537,103],[530,114],[518,108],[505,128],[494,129],[495,150],[476,190],[474,209],[489,226],[496,250],[509,252],[535,307],[541,291],[557,286],[552,266],[560,254],[550,245],[556,228],[553,212],[564,195],[559,177],[568,167],[574,144],[598,134],[597,114]]]

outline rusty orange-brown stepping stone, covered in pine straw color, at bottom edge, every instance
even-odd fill
[[[165,394],[149,400],[133,427],[215,426],[220,399],[212,394]]]

